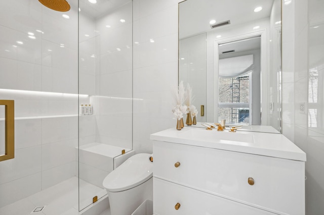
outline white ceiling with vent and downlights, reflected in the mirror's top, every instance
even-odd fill
[[[179,4],[179,38],[211,31],[210,20],[230,20],[233,26],[269,17],[272,4],[273,0],[186,0]],[[259,6],[262,11],[254,12]]]

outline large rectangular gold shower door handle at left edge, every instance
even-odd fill
[[[5,154],[0,155],[0,162],[15,158],[15,101],[0,100],[5,105]]]

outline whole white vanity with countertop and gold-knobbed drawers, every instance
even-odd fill
[[[151,134],[156,215],[305,214],[306,154],[282,134]]]

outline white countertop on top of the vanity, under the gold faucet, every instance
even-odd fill
[[[184,127],[151,134],[150,139],[306,161],[306,153],[282,134]]]

